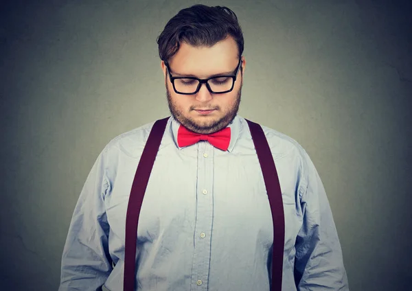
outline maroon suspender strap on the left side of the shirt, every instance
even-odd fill
[[[166,117],[157,120],[152,126],[148,141],[141,154],[130,191],[126,213],[126,238],[124,243],[124,291],[135,291],[137,223],[139,221],[141,204],[148,185],[150,173],[152,172],[152,167],[155,163],[156,155],[169,118],[170,117]]]

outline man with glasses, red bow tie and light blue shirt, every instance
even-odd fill
[[[170,19],[158,44],[172,117],[139,213],[135,290],[270,290],[273,213],[251,130],[237,115],[246,61],[236,15],[194,5]],[[152,128],[119,135],[98,156],[69,227],[60,291],[124,288],[130,189]],[[282,290],[348,290],[312,161],[262,128],[282,189]],[[220,132],[227,142],[212,145]]]

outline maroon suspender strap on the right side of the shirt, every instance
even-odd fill
[[[273,220],[273,248],[272,248],[272,291],[282,290],[283,253],[285,240],[285,217],[283,209],[282,191],[275,167],[275,161],[264,136],[262,127],[247,120],[262,174],[269,203],[271,205]]]

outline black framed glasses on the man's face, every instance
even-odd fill
[[[238,67],[236,67],[233,75],[214,75],[213,77],[207,79],[199,79],[196,77],[185,76],[173,77],[172,73],[170,73],[169,64],[165,62],[174,92],[183,95],[193,95],[198,93],[203,83],[206,84],[207,90],[213,94],[222,94],[232,91],[235,86],[236,76],[238,75],[241,64],[242,58],[240,58]]]

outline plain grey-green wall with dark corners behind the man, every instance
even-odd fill
[[[240,115],[310,154],[354,291],[408,290],[412,279],[410,2],[202,2],[238,14]],[[3,4],[1,290],[57,290],[71,215],[98,154],[169,115],[155,40],[194,3]]]

